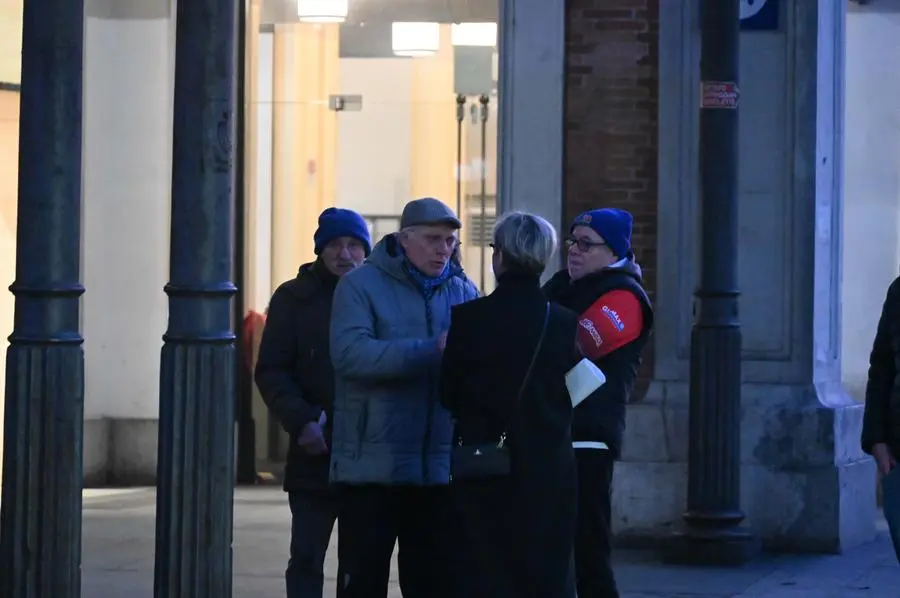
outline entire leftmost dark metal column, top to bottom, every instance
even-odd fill
[[[0,507],[3,598],[81,594],[83,21],[79,0],[25,2]]]

